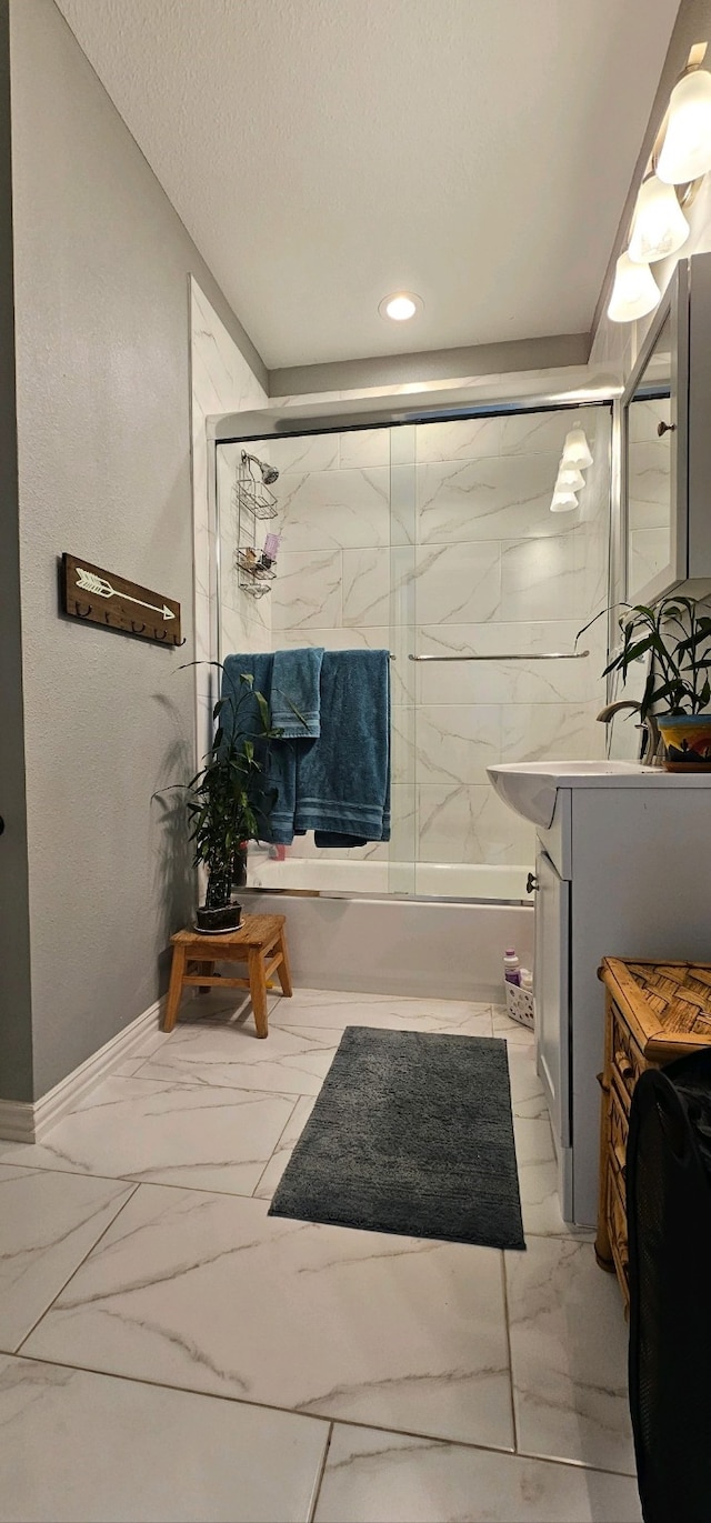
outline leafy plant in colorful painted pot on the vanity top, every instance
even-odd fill
[[[711,771],[711,617],[693,597],[638,603],[620,615],[621,650],[606,666],[623,682],[633,661],[649,655],[639,719],[656,717],[668,772]],[[583,632],[583,631],[580,631]]]

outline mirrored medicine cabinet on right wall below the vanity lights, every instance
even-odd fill
[[[626,599],[711,588],[711,253],[681,259],[621,407]]]

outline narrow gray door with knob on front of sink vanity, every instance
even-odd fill
[[[536,1062],[551,1125],[569,1147],[569,889],[539,847],[536,856]]]

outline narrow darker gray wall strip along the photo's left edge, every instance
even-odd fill
[[[20,658],[8,0],[0,0],[0,1095],[32,1094]]]

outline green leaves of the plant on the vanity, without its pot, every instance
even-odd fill
[[[623,606],[623,646],[603,676],[620,672],[624,682],[632,663],[649,655],[639,717],[662,708],[667,714],[700,714],[711,701],[711,617],[699,612],[693,597],[664,597],[655,608]]]

